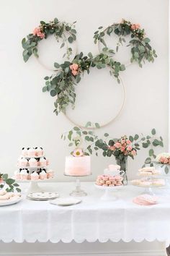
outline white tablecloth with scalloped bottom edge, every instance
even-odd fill
[[[73,183],[41,184],[46,190],[68,195]],[[24,184],[25,186],[25,184]],[[117,201],[102,201],[103,192],[91,182],[81,184],[88,192],[79,205],[60,207],[48,201],[24,199],[16,205],[0,208],[0,240],[3,242],[125,242],[143,239],[170,241],[170,197],[161,197],[153,206],[132,202],[141,189],[126,186]],[[157,189],[164,193],[165,189]]]

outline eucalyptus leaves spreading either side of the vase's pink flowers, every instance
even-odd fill
[[[99,124],[91,124],[89,121],[86,124],[86,127],[97,127],[99,128]],[[126,136],[124,136],[126,137]],[[98,155],[99,150],[102,150],[102,155],[104,157],[111,157],[112,155],[117,157],[117,154],[120,154],[119,150],[112,150],[112,146],[115,145],[115,143],[119,142],[120,139],[117,138],[110,138],[109,134],[106,132],[102,136],[102,138],[99,138],[94,133],[94,130],[87,130],[82,129],[81,127],[73,127],[69,132],[64,133],[61,138],[63,140],[68,139],[69,147],[75,148],[84,148],[84,155],[92,155],[95,153]],[[126,137],[127,138],[127,137]],[[148,149],[148,157],[144,161],[143,167],[146,166],[146,164],[149,164],[150,166],[153,166],[153,162],[155,161],[156,154],[153,150],[154,147],[164,147],[163,138],[156,136],[156,129],[151,130],[150,135],[144,136],[142,135],[130,135],[128,137],[128,140],[130,140],[130,145],[132,147],[132,150],[135,150],[135,154],[128,154],[130,158],[134,159],[134,156],[138,153],[138,150],[141,148],[147,148]],[[71,151],[71,154],[73,154],[73,150]]]

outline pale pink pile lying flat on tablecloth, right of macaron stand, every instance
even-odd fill
[[[153,195],[143,194],[135,197],[133,202],[137,205],[156,205],[158,198]]]

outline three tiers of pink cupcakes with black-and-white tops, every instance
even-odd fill
[[[22,181],[51,179],[54,171],[48,170],[48,164],[49,161],[45,158],[42,148],[22,148],[22,154],[17,161],[19,168],[14,172],[14,179]]]

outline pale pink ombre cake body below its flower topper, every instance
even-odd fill
[[[66,156],[65,174],[70,176],[86,176],[91,174],[89,155],[79,157]]]

